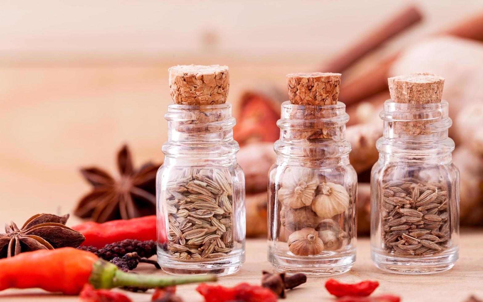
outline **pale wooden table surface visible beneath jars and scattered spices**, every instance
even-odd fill
[[[464,302],[474,294],[483,299],[483,233],[467,231],[461,235],[460,259],[450,271],[431,275],[400,275],[383,273],[370,260],[369,239],[358,241],[357,261],[353,269],[335,276],[344,282],[378,280],[379,288],[374,294],[393,293],[400,295],[403,302],[438,301]],[[258,284],[261,270],[270,270],[266,260],[266,241],[250,239],[246,243],[246,262],[238,273],[221,277],[220,284],[232,286],[240,282]],[[156,269],[141,264],[138,272],[156,273]],[[289,290],[285,301],[334,301],[324,288],[328,277],[310,277],[306,284]],[[196,285],[178,286],[178,293],[186,302],[201,302],[195,291]],[[123,291],[125,292],[125,291]],[[150,301],[152,291],[147,293],[126,292],[133,301]],[[77,297],[52,295],[40,289],[9,289],[0,292],[0,301],[77,301]]]

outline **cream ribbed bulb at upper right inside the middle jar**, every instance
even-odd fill
[[[330,218],[345,212],[349,207],[349,193],[341,185],[323,183],[319,185],[319,191],[312,202],[312,210],[319,217]]]

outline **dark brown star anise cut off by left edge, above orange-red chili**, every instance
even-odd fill
[[[69,214],[37,214],[18,228],[12,221],[5,224],[6,234],[0,233],[0,258],[12,257],[21,252],[58,247],[77,247],[85,240],[81,232],[65,226]]]

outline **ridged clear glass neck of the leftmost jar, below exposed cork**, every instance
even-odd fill
[[[168,121],[168,141],[162,147],[166,158],[225,162],[232,161],[240,148],[233,140],[236,120],[230,103],[171,104],[164,117]]]

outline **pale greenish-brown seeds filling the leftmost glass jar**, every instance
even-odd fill
[[[167,250],[181,260],[217,259],[233,247],[233,191],[219,170],[192,169],[166,190]]]

